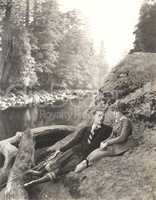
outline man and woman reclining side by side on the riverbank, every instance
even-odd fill
[[[103,124],[105,109],[96,108],[92,125],[83,127],[74,139],[57,150],[55,161],[49,160],[39,171],[27,172],[37,178],[25,183],[25,187],[54,181],[70,171],[78,173],[103,157],[125,153],[130,147],[132,125],[124,115],[125,104],[117,103],[112,110],[115,116],[113,128]]]

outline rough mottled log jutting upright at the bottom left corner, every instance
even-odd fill
[[[30,129],[22,134],[19,150],[10,171],[5,189],[5,197],[8,200],[29,200],[24,188],[24,173],[34,164],[34,139]]]

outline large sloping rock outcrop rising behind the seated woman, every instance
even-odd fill
[[[133,53],[108,75],[99,90],[96,104],[113,104],[117,99],[127,105],[127,115],[145,127],[156,123],[156,54]],[[108,111],[110,113],[110,111]]]

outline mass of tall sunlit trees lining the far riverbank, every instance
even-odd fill
[[[32,87],[38,80],[40,89],[48,91],[58,84],[97,88],[103,58],[96,54],[78,11],[63,13],[56,0],[10,2],[3,20],[3,85],[22,82]]]

